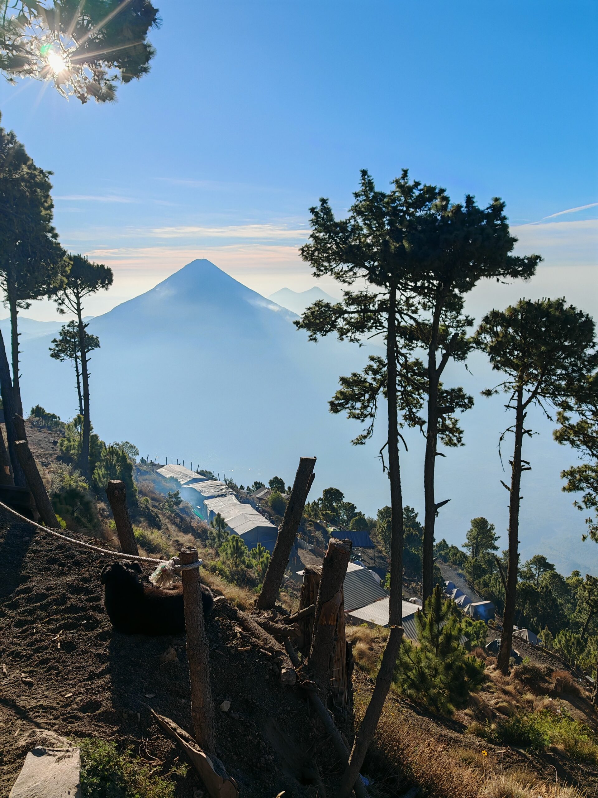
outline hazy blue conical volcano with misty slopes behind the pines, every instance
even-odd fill
[[[262,297],[207,260],[195,260],[145,294],[93,318],[100,337],[91,357],[92,423],[107,441],[131,440],[161,462],[174,456],[231,476],[238,484],[293,480],[301,455],[316,455],[316,482],[340,488],[346,499],[374,515],[389,504],[380,449],[385,409],[372,440],[350,441],[361,425],[329,413],[338,377],[361,369],[371,346],[333,338],[313,344],[297,330],[297,316]],[[22,391],[26,409],[39,403],[62,418],[77,412],[74,372],[49,358],[52,334],[22,339]],[[463,385],[475,398],[462,418],[466,445],[440,458],[436,496],[450,499],[439,512],[438,538],[460,545],[470,519],[486,516],[506,547],[505,479],[498,439],[509,425],[504,398],[486,399],[494,385],[481,353],[447,369],[447,385]],[[529,424],[540,433],[526,440],[521,503],[521,562],[540,553],[568,574],[578,568],[598,575],[598,546],[581,542],[584,516],[561,491],[560,473],[575,454],[553,441],[553,425],[541,413]],[[423,518],[423,437],[402,430],[403,497]],[[510,440],[505,446],[510,445]],[[506,449],[503,449],[503,454]]]

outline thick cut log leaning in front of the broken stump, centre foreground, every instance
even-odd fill
[[[331,538],[322,562],[308,662],[324,697],[328,696],[330,689],[336,622],[339,614],[344,613],[343,582],[350,556],[350,540]]]

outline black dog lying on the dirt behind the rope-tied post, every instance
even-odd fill
[[[116,631],[124,634],[181,634],[185,631],[183,588],[164,591],[141,582],[141,566],[129,560],[102,569],[104,607]],[[214,597],[202,585],[204,618],[214,606]]]

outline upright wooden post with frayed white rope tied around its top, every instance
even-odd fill
[[[187,547],[179,551],[181,565],[199,562],[197,549]],[[182,571],[183,603],[185,606],[185,634],[187,660],[191,680],[191,718],[195,740],[209,755],[216,752],[214,737],[214,701],[210,686],[209,646],[203,621],[202,582],[199,567]]]

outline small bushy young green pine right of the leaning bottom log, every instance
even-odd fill
[[[485,676],[484,663],[469,656],[459,642],[463,628],[454,602],[445,600],[437,585],[415,614],[419,645],[405,637],[401,641],[395,683],[405,695],[439,713],[466,705]]]

